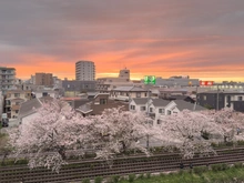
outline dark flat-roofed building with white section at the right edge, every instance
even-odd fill
[[[244,91],[214,90],[197,93],[197,103],[209,109],[231,108],[244,112]]]

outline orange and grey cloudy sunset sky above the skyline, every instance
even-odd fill
[[[244,0],[0,0],[0,67],[28,79],[153,74],[244,81]]]

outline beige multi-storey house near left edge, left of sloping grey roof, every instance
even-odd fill
[[[4,111],[9,119],[17,119],[21,103],[32,98],[30,90],[7,91]]]

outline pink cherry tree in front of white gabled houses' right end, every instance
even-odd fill
[[[161,122],[157,138],[165,144],[179,148],[184,159],[191,159],[195,153],[214,153],[210,134],[220,133],[220,128],[207,115],[184,110],[177,114],[163,115]]]

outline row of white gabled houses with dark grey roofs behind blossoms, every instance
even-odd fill
[[[163,99],[131,99],[129,110],[132,112],[145,112],[153,120],[153,125],[161,123],[162,115],[171,115],[183,110],[203,111],[200,105],[183,100],[167,101]]]

